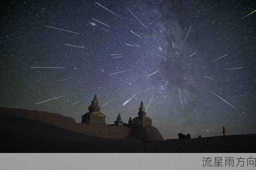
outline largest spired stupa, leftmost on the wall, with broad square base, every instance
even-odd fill
[[[105,123],[105,115],[100,113],[100,107],[99,107],[99,101],[97,98],[97,95],[93,97],[93,101],[91,102],[91,105],[88,108],[89,112],[85,113],[82,116],[82,122],[81,123],[86,123],[86,124],[102,124],[106,125]]]

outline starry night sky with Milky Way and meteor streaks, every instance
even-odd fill
[[[108,124],[118,113],[124,122],[137,116],[143,100],[165,139],[218,136],[222,126],[226,135],[256,133],[254,0],[9,0],[0,8],[2,107],[81,122],[97,94]]]

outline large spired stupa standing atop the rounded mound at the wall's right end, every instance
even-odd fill
[[[140,103],[138,116],[132,120],[133,125],[137,126],[152,126],[152,120],[146,116],[146,112],[143,106],[143,101]]]

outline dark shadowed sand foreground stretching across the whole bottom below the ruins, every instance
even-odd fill
[[[83,135],[6,115],[0,118],[0,135],[1,153],[256,153],[256,134],[145,143]]]

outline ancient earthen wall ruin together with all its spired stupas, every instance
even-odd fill
[[[130,117],[128,123],[121,120],[121,114],[119,113],[116,121],[111,125],[107,125],[105,123],[106,116],[100,112],[99,100],[96,95],[88,110],[88,113],[82,115],[81,123],[76,123],[75,119],[57,113],[0,107],[0,113],[44,122],[81,134],[111,139],[136,138],[145,142],[164,140],[157,128],[152,126],[151,119],[146,117],[143,102],[140,104],[138,116],[134,119]]]

